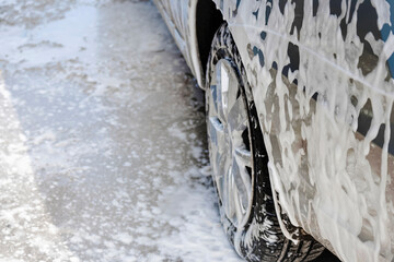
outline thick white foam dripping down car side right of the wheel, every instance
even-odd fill
[[[218,7],[221,1],[216,1]],[[349,16],[346,1],[337,17],[329,14],[329,1],[304,1],[303,24],[290,35],[296,4],[287,1],[283,14],[278,1],[223,2],[237,48],[253,86],[269,153],[275,190],[282,211],[332,246],[344,261],[392,261],[394,258],[393,158],[387,154],[394,81],[386,81],[386,60],[394,51],[394,36],[383,43],[368,33],[366,40],[379,57],[364,75],[358,68],[363,44],[357,35],[357,15],[343,39],[339,23]],[[373,0],[379,29],[390,22],[386,1]],[[357,14],[361,1],[356,4]],[[266,7],[270,7],[266,24]],[[233,12],[236,10],[236,12]],[[257,12],[256,12],[257,11]],[[266,38],[262,39],[262,32]],[[298,37],[299,35],[299,37]],[[299,47],[300,66],[283,79],[290,60],[289,41]],[[248,48],[264,53],[251,57]],[[277,70],[273,71],[273,63]],[[271,70],[271,71],[269,71]],[[298,87],[290,85],[294,79]],[[304,92],[303,87],[304,86]],[[318,93],[314,103],[312,95]],[[352,97],[357,105],[352,105]],[[360,110],[370,99],[373,118],[364,138],[357,133]],[[383,150],[371,144],[385,124]],[[374,163],[376,162],[376,163]],[[252,229],[251,229],[252,230]]]

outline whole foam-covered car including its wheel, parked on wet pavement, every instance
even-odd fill
[[[154,0],[248,261],[394,261],[394,1]]]

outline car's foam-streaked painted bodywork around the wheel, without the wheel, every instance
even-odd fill
[[[343,261],[394,261],[394,1],[154,2],[202,88],[228,23],[291,224]]]

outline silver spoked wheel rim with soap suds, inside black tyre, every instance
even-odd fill
[[[246,103],[230,61],[219,60],[211,76],[207,92],[210,163],[224,214],[240,227],[247,222],[253,195]]]

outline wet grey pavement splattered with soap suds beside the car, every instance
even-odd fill
[[[0,47],[0,261],[239,261],[151,2],[3,0]]]

